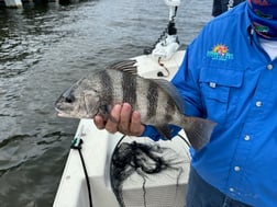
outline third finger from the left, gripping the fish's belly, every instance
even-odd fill
[[[123,134],[129,134],[129,126],[131,122],[132,115],[132,106],[129,103],[124,103],[121,108],[120,113],[120,124],[119,129]]]

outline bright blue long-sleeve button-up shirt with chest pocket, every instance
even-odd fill
[[[255,207],[277,206],[277,59],[251,27],[246,3],[209,22],[171,81],[186,114],[218,123],[191,164],[211,185]],[[144,136],[158,135],[146,127]]]

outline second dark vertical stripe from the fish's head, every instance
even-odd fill
[[[130,103],[132,107],[136,103],[136,76],[123,72],[122,74],[123,103]]]

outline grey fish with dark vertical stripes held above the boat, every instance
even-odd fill
[[[55,102],[59,117],[109,118],[115,104],[129,103],[141,114],[141,122],[154,126],[165,139],[170,139],[170,127],[182,128],[190,145],[202,149],[209,141],[214,122],[186,116],[185,101],[174,84],[164,79],[147,79],[137,74],[136,60],[111,64],[93,70],[78,80]]]

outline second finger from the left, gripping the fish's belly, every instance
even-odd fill
[[[121,105],[117,104],[113,106],[110,117],[107,120],[106,124],[106,130],[109,133],[117,133],[118,131],[118,125],[120,120],[120,113],[121,113]]]

